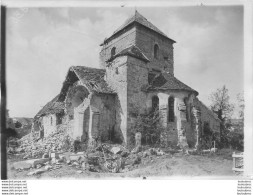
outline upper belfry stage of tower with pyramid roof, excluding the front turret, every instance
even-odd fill
[[[132,17],[100,45],[100,67],[106,67],[106,61],[112,54],[136,46],[150,60],[150,72],[164,70],[174,75],[173,43],[174,40],[135,11]]]

